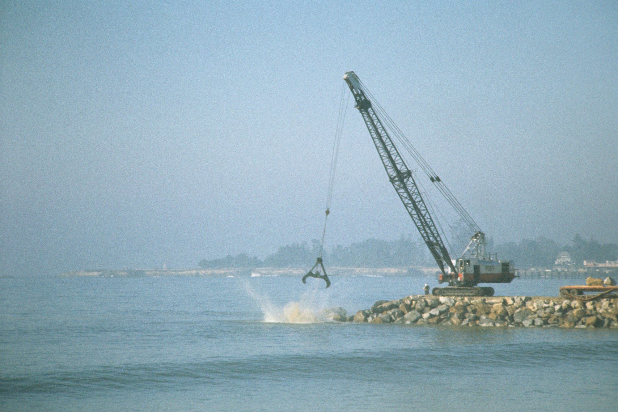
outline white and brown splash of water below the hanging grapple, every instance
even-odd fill
[[[271,303],[268,296],[256,293],[247,285],[247,293],[260,306],[264,322],[285,324],[315,324],[329,322],[331,312],[324,309],[324,296],[318,294],[318,288],[303,293],[298,301],[290,301],[283,307]]]

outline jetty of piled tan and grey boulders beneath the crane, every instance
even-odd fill
[[[335,314],[332,319],[372,324],[618,328],[618,298],[582,303],[567,298],[530,296],[412,295],[396,301],[378,301],[355,315]]]

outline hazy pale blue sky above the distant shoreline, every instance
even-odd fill
[[[2,273],[320,237],[350,70],[490,238],[618,241],[615,1],[0,7]],[[331,210],[417,236],[351,101]]]

